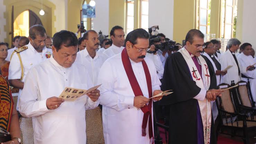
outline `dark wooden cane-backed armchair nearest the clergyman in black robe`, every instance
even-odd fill
[[[220,84],[221,89],[228,88],[228,84]],[[221,97],[216,99],[219,116],[221,118],[221,133],[238,136],[244,140],[245,144],[249,143],[249,132],[255,131],[256,122],[246,121],[247,116],[237,111],[231,94],[231,90],[224,90]],[[233,118],[236,117],[234,120]],[[223,121],[226,121],[226,124]],[[228,122],[230,120],[230,123]],[[231,133],[225,132],[224,129],[231,130]],[[241,132],[242,135],[238,134]]]

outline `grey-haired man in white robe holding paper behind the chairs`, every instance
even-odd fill
[[[238,39],[231,38],[228,41],[228,50],[224,52],[220,57],[221,70],[232,66],[228,69],[228,73],[221,77],[221,83],[231,84],[231,81],[234,81],[236,84],[241,80],[241,73],[246,73],[246,71],[252,66],[240,65],[240,62],[237,60],[235,51],[239,49],[241,42]]]

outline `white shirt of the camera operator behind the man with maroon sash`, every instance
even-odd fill
[[[153,61],[154,65],[156,66],[157,75],[159,79],[162,79],[164,75],[164,66],[162,65],[160,56],[158,54],[155,55],[147,53],[146,57],[150,58]]]

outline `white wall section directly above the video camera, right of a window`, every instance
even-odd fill
[[[173,39],[174,0],[149,0],[149,27],[158,25],[159,33]]]

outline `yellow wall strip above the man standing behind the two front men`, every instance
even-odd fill
[[[109,32],[114,26],[121,26],[125,30],[125,6],[125,0],[109,0]]]

